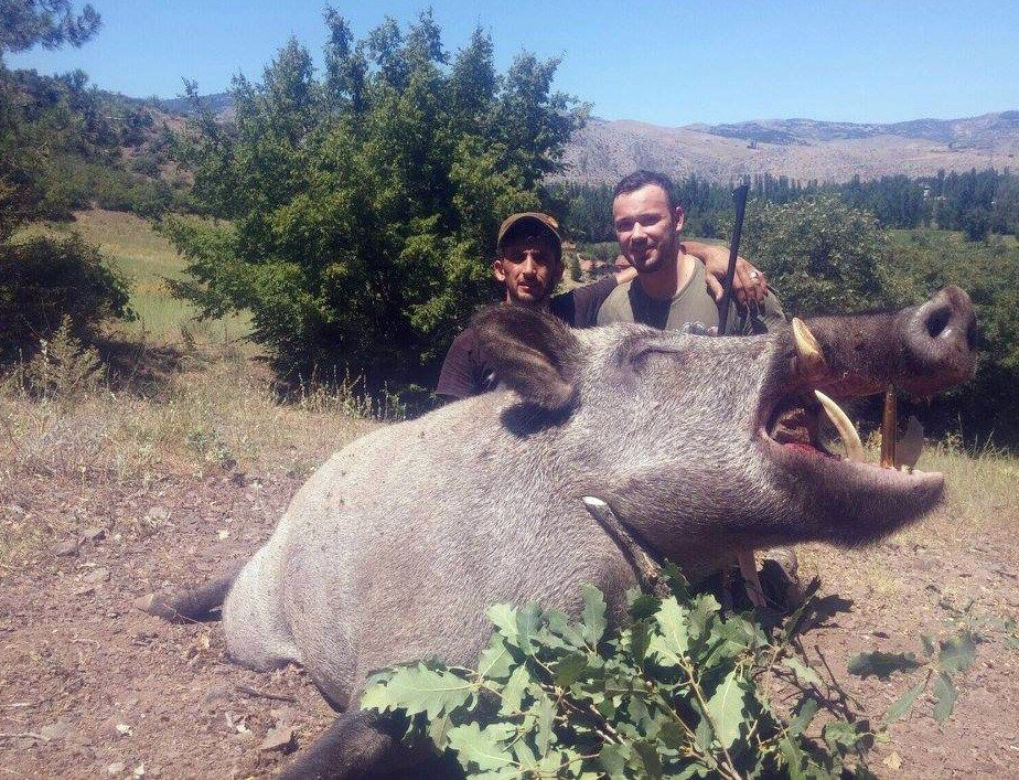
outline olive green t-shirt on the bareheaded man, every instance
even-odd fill
[[[694,274],[672,300],[656,301],[644,292],[640,277],[616,287],[598,310],[598,324],[613,322],[642,322],[653,328],[669,330],[704,330],[718,327],[719,311],[715,299],[708,292],[704,264],[694,264]],[[729,307],[730,335],[766,333],[776,323],[784,323],[785,314],[779,299],[772,292],[753,311],[740,312],[736,304]]]

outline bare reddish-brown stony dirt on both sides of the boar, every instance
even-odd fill
[[[243,559],[303,479],[234,468],[93,484],[20,471],[0,485],[0,522],[44,533],[0,570],[0,774],[264,777],[310,745],[331,713],[300,670],[238,669],[217,623],[171,626],[131,606]],[[849,655],[918,650],[921,633],[943,633],[967,605],[974,619],[1016,618],[1017,520],[1015,498],[978,525],[950,502],[876,547],[802,551],[824,591],[852,601],[808,634],[808,650],[883,713],[908,683],[851,677]],[[1019,651],[1004,638],[989,631],[978,647],[943,727],[929,699],[892,728],[872,762],[880,776],[1019,774]]]

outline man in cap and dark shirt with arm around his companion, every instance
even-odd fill
[[[686,249],[710,264],[712,276],[709,278],[714,280],[715,276],[725,277],[727,252],[702,244],[688,244]],[[505,288],[506,303],[548,307],[556,317],[573,328],[594,325],[602,302],[618,285],[636,277],[635,269],[618,266],[615,274],[553,296],[562,277],[562,239],[556,220],[539,212],[508,216],[498,228],[495,250],[492,274]],[[696,263],[693,258],[691,261]],[[740,263],[740,273],[743,284],[738,285],[738,290],[743,296],[762,297],[763,290],[766,290],[764,278],[752,280],[748,274],[757,271],[743,260]],[[718,289],[721,287],[718,286]],[[492,389],[496,384],[494,371],[478,343],[478,334],[473,328],[468,327],[453,340],[446,355],[436,394],[447,400],[465,398]]]

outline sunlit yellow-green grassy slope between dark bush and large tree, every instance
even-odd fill
[[[248,333],[250,322],[246,316],[199,322],[190,303],[170,295],[165,280],[181,277],[184,259],[151,223],[139,216],[94,209],[76,212],[74,222],[34,225],[26,233],[61,235],[73,231],[98,246],[109,264],[130,281],[131,308],[138,320],[119,325],[128,335],[175,342],[181,340],[183,328],[190,338],[222,344]]]

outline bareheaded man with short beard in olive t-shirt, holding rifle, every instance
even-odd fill
[[[683,252],[683,206],[673,200],[672,192],[667,177],[650,171],[632,173],[616,185],[612,202],[615,236],[637,277],[609,295],[598,312],[599,325],[642,322],[655,328],[717,332],[718,306],[708,292],[704,265]],[[741,310],[731,307],[729,312],[726,332],[730,334],[763,333],[769,325],[785,321],[771,292],[760,302]]]

